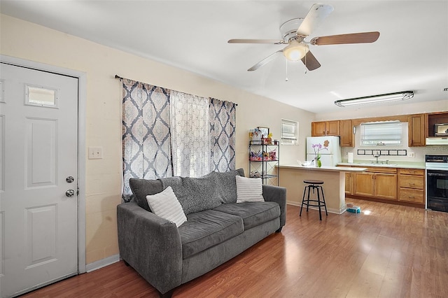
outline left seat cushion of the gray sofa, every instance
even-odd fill
[[[191,213],[179,227],[182,257],[191,257],[242,232],[243,220],[239,216],[214,210]]]

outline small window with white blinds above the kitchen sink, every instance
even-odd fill
[[[360,125],[361,146],[401,145],[400,121],[368,122]]]

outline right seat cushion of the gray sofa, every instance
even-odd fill
[[[280,216],[280,206],[274,201],[223,204],[214,210],[241,217],[245,230]]]

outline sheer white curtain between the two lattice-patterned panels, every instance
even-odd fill
[[[210,173],[209,99],[171,90],[172,162],[174,176]]]

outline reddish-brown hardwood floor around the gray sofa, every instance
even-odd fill
[[[447,297],[448,213],[348,199],[363,213],[302,212],[173,297]],[[367,214],[370,211],[370,214]],[[123,262],[24,297],[158,297]]]

